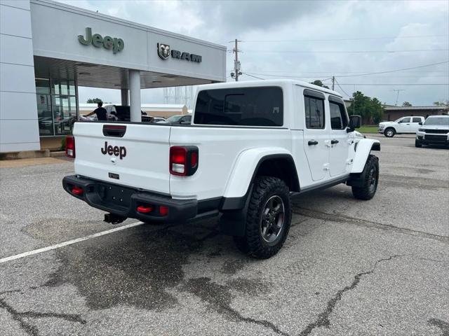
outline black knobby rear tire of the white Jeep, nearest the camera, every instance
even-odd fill
[[[274,196],[280,197],[283,203],[283,223],[279,235],[272,242],[265,241],[262,236],[262,212],[267,202]],[[278,198],[279,200],[279,198]],[[246,215],[244,237],[234,237],[237,248],[253,258],[267,259],[278,253],[286,241],[292,218],[290,192],[286,183],[271,176],[257,176],[253,192],[250,195]]]

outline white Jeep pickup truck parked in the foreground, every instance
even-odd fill
[[[346,183],[370,200],[380,143],[354,134],[335,91],[293,80],[201,85],[191,125],[75,123],[64,189],[105,221],[220,216],[220,230],[255,258],[288,235],[290,197]]]

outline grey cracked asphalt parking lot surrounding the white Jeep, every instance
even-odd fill
[[[269,260],[213,220],[0,261],[0,335],[449,335],[449,151],[377,139],[375,198],[340,185],[295,199]],[[0,260],[116,228],[62,190],[72,172],[0,169]]]

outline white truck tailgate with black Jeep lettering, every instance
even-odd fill
[[[169,194],[170,128],[132,123],[75,123],[75,173]]]

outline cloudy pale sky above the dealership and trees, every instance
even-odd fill
[[[359,90],[395,104],[394,90],[401,90],[399,104],[449,99],[448,0],[62,2],[228,50],[229,41],[239,38],[242,71],[248,73],[241,80],[254,79],[251,75],[330,83],[335,76],[340,84],[335,90],[344,97]],[[228,52],[228,73],[233,60]],[[366,74],[397,69],[406,70]],[[119,90],[87,88],[80,90],[80,101],[92,95],[120,101]],[[161,90],[142,90],[142,101],[163,102]]]

